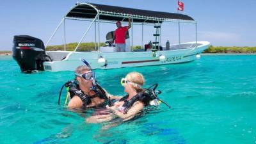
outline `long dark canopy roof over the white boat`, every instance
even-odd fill
[[[195,22],[188,15],[180,13],[156,12],[150,10],[140,10],[134,8],[124,8],[120,6],[108,6],[103,4],[93,3],[77,3],[76,6],[65,15],[71,19],[93,19],[99,15],[100,20],[111,21],[127,21],[128,17],[133,19],[133,22],[146,23],[161,23],[163,21],[184,21]]]

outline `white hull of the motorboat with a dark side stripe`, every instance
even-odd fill
[[[68,52],[64,60],[44,62],[44,69],[51,72],[66,70],[73,71],[79,65],[83,65],[81,59],[88,61],[93,69],[186,63],[196,60],[196,54],[202,53],[209,47],[209,42],[198,42],[197,44],[197,47],[193,47],[193,45],[196,45],[195,42],[184,43],[180,44],[179,47],[186,45],[186,48],[157,52]],[[190,45],[190,47],[188,47],[188,45]],[[59,52],[61,53],[61,51]],[[160,56],[164,56],[165,59],[160,60]],[[104,58],[106,60],[106,65],[100,65],[98,63],[99,58]]]

